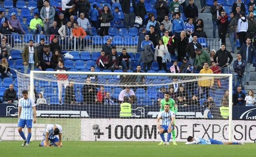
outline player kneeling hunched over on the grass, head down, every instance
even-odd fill
[[[59,135],[59,138],[56,136]],[[50,144],[49,144],[50,140]],[[58,146],[62,147],[62,126],[59,124],[48,124],[43,132],[43,140],[39,144],[41,147]]]

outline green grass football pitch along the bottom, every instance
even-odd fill
[[[255,157],[254,143],[245,145],[158,146],[158,142],[64,141],[63,147],[21,147],[22,141],[0,141],[0,157]]]

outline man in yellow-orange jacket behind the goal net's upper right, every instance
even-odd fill
[[[203,69],[199,73],[213,73],[213,71],[210,69],[208,62],[205,62],[203,64]],[[199,87],[203,90],[203,93],[206,93],[206,99],[209,97],[209,90],[210,87],[213,86],[214,80],[213,79],[206,79],[207,77],[201,77],[201,79],[198,81]]]

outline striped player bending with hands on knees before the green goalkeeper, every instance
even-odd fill
[[[162,118],[162,126],[160,126],[160,123],[159,123],[159,120],[161,118]],[[169,141],[171,138],[171,130],[173,129],[172,124],[174,123],[174,121],[175,121],[175,113],[173,111],[170,111],[169,104],[165,104],[164,111],[161,111],[158,114],[158,118],[157,118],[157,127],[159,129],[159,134],[165,145],[169,145]],[[165,135],[164,135],[164,133],[166,132],[168,133],[167,142],[165,142]]]

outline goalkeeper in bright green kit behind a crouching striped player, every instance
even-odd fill
[[[160,105],[161,105],[160,112],[164,110],[165,104],[169,104],[170,105],[170,111],[173,111],[175,114],[177,113],[178,106],[176,105],[175,101],[170,98],[170,93],[168,91],[165,92],[165,99],[159,98],[158,102],[160,102]],[[176,122],[176,120],[174,121],[174,124],[173,124],[174,129],[175,129],[175,122]],[[175,142],[176,133],[175,133],[174,129],[171,131],[172,139],[173,139],[172,144],[177,145],[176,142]],[[158,144],[158,145],[163,145],[163,144],[164,144],[164,142],[161,141],[160,144]]]

